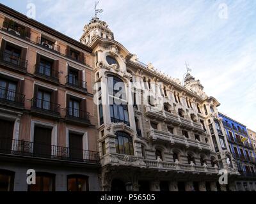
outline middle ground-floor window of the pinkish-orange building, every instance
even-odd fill
[[[55,175],[36,172],[36,184],[28,185],[28,191],[55,191]]]

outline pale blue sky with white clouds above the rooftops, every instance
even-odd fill
[[[79,40],[94,15],[94,0],[0,0],[35,20]],[[141,62],[180,78],[186,73],[204,85],[218,110],[256,131],[255,0],[101,0],[101,20],[115,40]]]

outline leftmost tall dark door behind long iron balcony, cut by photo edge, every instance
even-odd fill
[[[0,120],[0,151],[10,152],[12,150],[13,121]]]

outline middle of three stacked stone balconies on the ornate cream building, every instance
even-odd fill
[[[199,150],[211,150],[209,143],[200,142],[185,136],[173,135],[165,131],[159,131],[157,129],[150,129],[148,131],[148,139],[162,142],[170,142],[172,144],[191,147]]]

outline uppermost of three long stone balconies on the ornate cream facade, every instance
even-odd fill
[[[147,117],[164,120],[166,123],[182,126],[186,129],[193,129],[198,133],[204,133],[204,128],[200,122],[193,122],[191,119],[185,119],[177,114],[166,112],[165,110],[159,109],[154,106],[145,106],[145,115]]]

